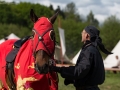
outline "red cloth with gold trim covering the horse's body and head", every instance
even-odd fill
[[[35,24],[34,29],[41,35],[44,31],[52,28],[52,24],[47,18],[40,18]],[[52,53],[54,51],[54,42],[50,39],[50,31],[44,37],[43,42]],[[58,81],[56,72],[48,74],[39,74],[34,69],[35,59],[33,57],[34,45],[37,45],[38,36],[35,34],[34,39],[27,40],[20,48],[16,60],[14,62],[15,82],[17,90],[58,90]],[[45,41],[46,40],[46,41]],[[12,50],[16,40],[7,40],[0,45],[0,90],[8,90],[8,85],[5,81],[6,61],[5,57]],[[43,49],[49,53],[46,48],[38,44],[37,49]],[[2,81],[2,82],[1,82]],[[5,89],[6,88],[6,89]]]

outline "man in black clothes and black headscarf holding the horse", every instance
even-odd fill
[[[64,80],[64,84],[73,84],[76,90],[100,90],[105,80],[105,70],[100,50],[105,54],[112,54],[105,49],[100,31],[94,26],[87,26],[82,31],[82,50],[79,54],[75,66],[57,67],[52,69],[59,72]]]

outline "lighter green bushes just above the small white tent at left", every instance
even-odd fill
[[[22,38],[31,35],[31,31],[27,27],[15,25],[15,24],[2,24],[0,23],[0,39],[5,38],[11,33],[16,34],[18,37]]]

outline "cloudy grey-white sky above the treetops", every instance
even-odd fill
[[[32,3],[40,3],[46,6],[52,4],[54,9],[56,9],[57,6],[60,6],[61,9],[64,9],[68,3],[74,2],[77,11],[80,13],[80,15],[83,15],[85,17],[92,10],[95,18],[99,22],[103,22],[107,17],[111,15],[116,15],[116,17],[120,19],[120,0],[5,0],[5,1],[8,2],[26,1]]]

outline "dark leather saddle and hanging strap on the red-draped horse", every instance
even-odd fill
[[[14,61],[20,47],[30,38],[27,36],[23,39],[17,40],[14,43],[13,49],[6,56],[6,71],[7,71],[7,82],[11,90],[16,90],[16,84],[14,82]]]

